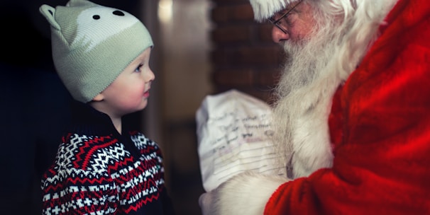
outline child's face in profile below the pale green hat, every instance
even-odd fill
[[[155,79],[149,67],[150,52],[151,48],[148,47],[101,92],[106,113],[121,117],[146,107],[149,89]]]

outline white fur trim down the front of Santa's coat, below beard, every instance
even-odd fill
[[[308,176],[319,168],[332,166],[333,153],[328,122],[331,100],[341,82],[341,79],[328,76],[313,86],[314,90],[300,96],[307,106],[316,107],[314,111],[304,112],[301,117],[294,120],[295,129],[292,136],[294,178]],[[323,90],[324,93],[321,93]],[[319,98],[318,103],[312,104],[315,98]]]

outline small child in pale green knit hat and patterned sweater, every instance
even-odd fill
[[[40,6],[57,73],[76,100],[43,214],[172,214],[159,146],[121,118],[148,103],[153,41],[130,13],[85,0]]]

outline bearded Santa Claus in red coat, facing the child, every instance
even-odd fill
[[[287,52],[274,144],[203,214],[430,214],[430,1],[250,0]]]

